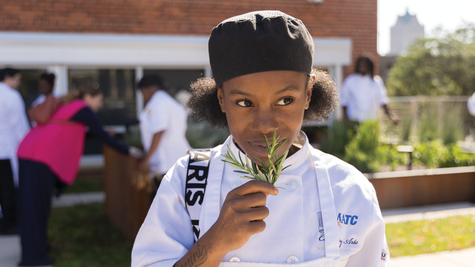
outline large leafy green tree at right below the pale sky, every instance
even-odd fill
[[[399,56],[388,80],[389,95],[471,95],[475,91],[475,24],[453,33],[441,28]]]

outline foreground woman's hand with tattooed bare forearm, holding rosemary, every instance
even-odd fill
[[[267,196],[278,193],[273,184],[258,180],[230,191],[216,223],[174,267],[217,267],[228,252],[242,247],[251,235],[264,231],[266,223],[262,220],[269,215]]]

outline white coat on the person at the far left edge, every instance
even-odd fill
[[[10,160],[15,187],[18,186],[16,150],[28,131],[23,98],[17,90],[0,82],[0,159]]]

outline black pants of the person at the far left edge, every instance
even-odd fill
[[[0,233],[8,233],[17,227],[16,189],[10,160],[0,160]]]

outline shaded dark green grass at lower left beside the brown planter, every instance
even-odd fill
[[[108,221],[103,204],[51,209],[48,237],[54,267],[130,267],[133,244]]]

